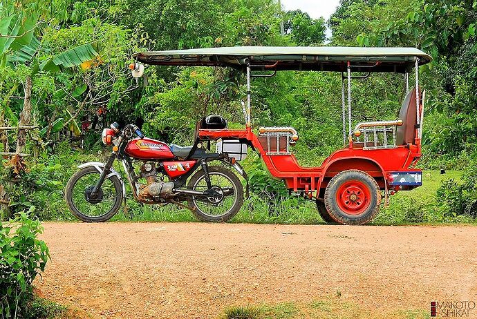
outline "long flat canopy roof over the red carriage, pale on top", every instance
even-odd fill
[[[353,71],[406,72],[415,59],[419,64],[432,60],[416,48],[362,48],[342,46],[234,46],[138,52],[133,55],[144,64],[158,66],[229,66],[245,70],[316,70],[346,71],[348,61]]]

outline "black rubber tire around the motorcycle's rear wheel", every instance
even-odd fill
[[[200,206],[197,205],[197,202],[194,198],[194,196],[189,197],[187,199],[187,204],[189,205],[189,209],[191,209],[192,213],[198,218],[199,220],[202,220],[204,222],[227,222],[231,218],[233,218],[238,211],[240,211],[242,205],[243,205],[243,186],[238,177],[229,169],[223,167],[223,166],[210,166],[208,168],[209,171],[209,176],[211,179],[214,176],[223,176],[226,177],[227,180],[230,181],[232,186],[234,187],[234,194],[236,195],[234,197],[234,202],[230,209],[227,209],[227,211],[220,213],[218,215],[211,215],[205,213],[203,209],[200,208]],[[194,175],[192,175],[191,179],[189,180],[189,183],[187,184],[188,189],[196,189],[198,186],[198,183],[202,182],[204,180],[205,174],[203,170],[197,171]],[[212,186],[214,186],[214,182],[212,181]],[[226,197],[224,197],[226,198]],[[204,203],[207,206],[207,203]],[[211,204],[212,206],[212,204]],[[220,209],[218,209],[220,211]]]

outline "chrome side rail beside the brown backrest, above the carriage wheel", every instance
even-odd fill
[[[364,150],[379,150],[384,148],[397,148],[396,145],[396,128],[402,126],[402,119],[395,121],[380,122],[362,122],[357,124],[355,131],[351,135],[356,137],[356,142],[363,142]],[[360,141],[359,137],[363,136],[364,141]],[[370,136],[371,135],[371,136]],[[389,141],[392,137],[392,141]],[[371,143],[371,146],[369,144]]]

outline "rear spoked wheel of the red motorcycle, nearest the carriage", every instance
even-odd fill
[[[192,213],[205,222],[227,222],[243,205],[243,186],[232,171],[222,166],[208,168],[212,191],[204,196],[192,196],[187,200]],[[207,191],[205,173],[195,173],[187,184],[194,191]]]

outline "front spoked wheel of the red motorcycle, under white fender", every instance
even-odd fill
[[[65,189],[68,208],[83,222],[106,222],[118,212],[123,193],[122,184],[117,176],[112,175],[95,194],[93,187],[100,178],[95,167],[85,167],[73,175]]]

